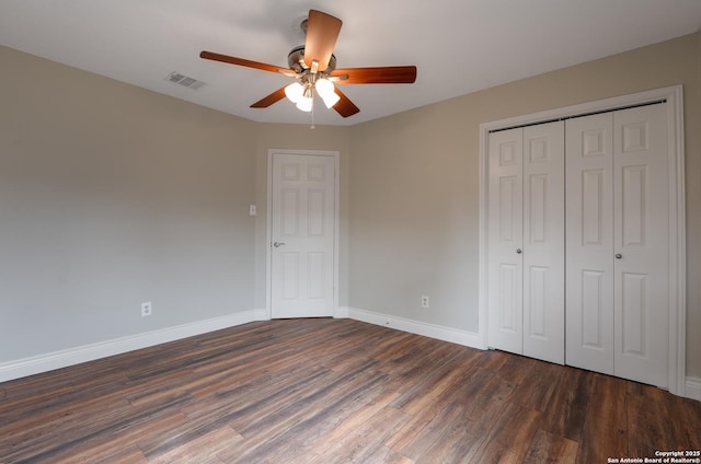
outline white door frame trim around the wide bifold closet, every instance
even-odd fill
[[[489,348],[489,135],[491,131],[532,124],[566,119],[591,113],[610,112],[629,106],[665,101],[668,124],[669,166],[669,392],[686,396],[686,188],[683,147],[682,85],[598,100],[573,106],[499,119],[480,125],[480,264],[479,329],[483,348]],[[563,327],[564,329],[564,327]]]

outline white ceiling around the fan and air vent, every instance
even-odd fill
[[[338,68],[415,65],[414,84],[344,85],[360,113],[317,104],[317,124],[353,125],[701,27],[701,0],[2,0],[0,45],[256,121],[309,123],[291,82],[203,60],[203,49],[287,67],[309,9],[343,21]],[[698,59],[698,57],[697,57]],[[206,82],[169,82],[177,71]]]

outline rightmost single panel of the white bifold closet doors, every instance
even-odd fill
[[[668,385],[667,111],[613,114],[616,375]]]

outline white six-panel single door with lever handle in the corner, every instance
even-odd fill
[[[335,159],[273,153],[271,316],[333,316]]]

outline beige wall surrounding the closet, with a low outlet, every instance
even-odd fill
[[[476,332],[479,125],[683,84],[687,373],[701,376],[700,57],[697,33],[352,127],[350,306]]]

